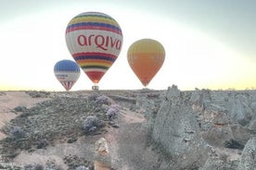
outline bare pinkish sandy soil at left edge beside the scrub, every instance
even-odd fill
[[[18,113],[13,112],[17,106],[25,106],[31,108],[34,104],[47,100],[46,98],[32,98],[25,91],[1,91],[0,93],[0,128],[6,122],[15,118]],[[6,135],[0,132],[0,140]]]

